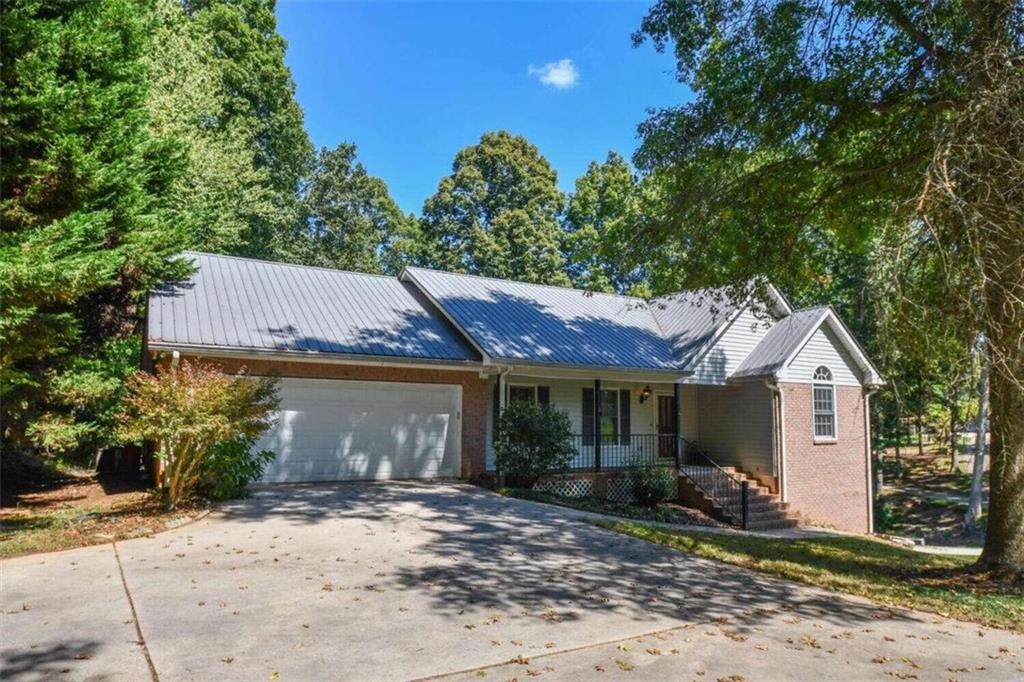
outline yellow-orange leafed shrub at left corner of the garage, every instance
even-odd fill
[[[157,443],[171,507],[204,489],[244,489],[272,458],[249,446],[278,409],[274,378],[254,380],[244,370],[232,376],[213,365],[182,360],[157,376],[135,373],[126,393],[128,411],[118,435]]]

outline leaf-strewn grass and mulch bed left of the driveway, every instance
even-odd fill
[[[60,507],[5,510],[0,557],[52,552],[138,538],[186,521],[199,508],[167,511],[152,493],[119,496],[113,504],[88,499]]]

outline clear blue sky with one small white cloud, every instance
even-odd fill
[[[571,190],[608,150],[630,157],[648,106],[688,90],[630,34],[649,3],[281,0],[306,127],[317,146],[355,142],[402,209],[488,130],[524,135]]]

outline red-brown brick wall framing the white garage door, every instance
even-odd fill
[[[185,358],[185,356],[182,356]],[[185,358],[187,359],[187,358]],[[486,434],[487,381],[478,372],[426,370],[400,367],[359,365],[321,365],[284,360],[238,360],[202,358],[219,365],[225,372],[245,367],[254,375],[276,373],[282,377],[302,379],[348,379],[356,381],[402,381],[423,384],[462,386],[462,477],[475,478],[483,473],[483,449]],[[166,366],[166,360],[161,363]]]

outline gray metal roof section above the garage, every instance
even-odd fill
[[[395,278],[187,252],[196,272],[150,295],[151,344],[432,360],[478,353]]]

